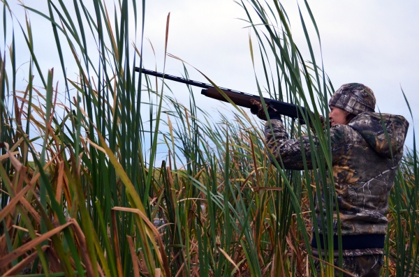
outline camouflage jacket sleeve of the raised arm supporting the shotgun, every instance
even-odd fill
[[[282,121],[272,119],[271,123],[273,134],[269,123],[265,123],[265,142],[279,165],[284,165],[284,169],[286,170],[304,170],[302,161],[304,150],[307,167],[309,170],[313,169],[309,136],[303,135],[302,137],[290,140]],[[343,126],[337,126],[337,128],[330,129],[332,161],[339,156],[338,152],[341,151],[341,146],[344,142],[344,128],[342,127]],[[313,141],[317,141],[316,136],[313,136]],[[271,156],[270,160],[272,162]]]

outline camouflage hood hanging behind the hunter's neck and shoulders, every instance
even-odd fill
[[[372,149],[385,158],[403,153],[409,122],[400,115],[362,112],[348,126],[360,133]]]

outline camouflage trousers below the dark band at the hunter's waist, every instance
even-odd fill
[[[348,271],[357,277],[378,277],[380,276],[380,269],[383,266],[383,255],[364,255],[358,257],[343,257],[343,268],[344,271]],[[339,267],[339,258],[334,259],[334,264]],[[317,276],[321,276],[321,265],[318,260],[314,260],[316,266]],[[323,267],[325,264],[323,264]],[[323,271],[325,272],[325,271]],[[335,269],[335,276],[339,276],[339,270]],[[343,274],[344,277],[350,275]]]

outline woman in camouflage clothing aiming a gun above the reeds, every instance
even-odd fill
[[[402,116],[376,113],[375,103],[372,90],[356,83],[344,84],[329,101],[332,171],[339,204],[343,269],[355,276],[378,276],[381,269],[388,226],[385,217],[388,195],[409,128]],[[253,101],[253,105],[251,112],[266,120],[262,105],[258,101]],[[303,170],[303,145],[307,166],[312,169],[309,137],[290,140],[281,117],[272,107],[267,110],[273,132],[266,123],[265,140],[279,164],[285,169]],[[321,226],[319,210],[316,200],[316,220]],[[333,226],[335,265],[338,265],[336,211]],[[322,230],[318,232],[322,234]],[[318,248],[324,248],[323,235],[320,238],[321,241],[311,241],[314,255],[318,254]],[[319,263],[315,263],[319,271]],[[339,271],[335,274],[339,276]]]

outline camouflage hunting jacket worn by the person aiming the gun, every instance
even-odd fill
[[[307,166],[312,169],[309,137],[304,135],[290,140],[280,120],[272,119],[271,122],[273,135],[266,123],[265,140],[279,165],[282,162],[285,169],[303,170],[304,147]],[[388,196],[402,160],[408,128],[409,123],[402,116],[374,112],[363,112],[347,125],[337,124],[330,128],[341,234],[385,234]],[[319,210],[316,200],[317,222],[321,228]],[[337,234],[336,211],[333,226],[333,232]]]

